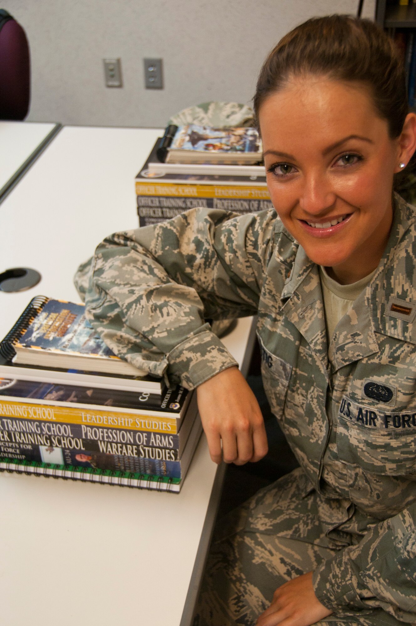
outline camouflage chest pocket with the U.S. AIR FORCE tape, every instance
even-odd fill
[[[416,478],[416,412],[387,413],[344,396],[336,443],[341,461],[387,476]]]

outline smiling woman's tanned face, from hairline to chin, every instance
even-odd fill
[[[308,257],[342,283],[370,274],[392,225],[398,140],[365,86],[306,76],[259,111],[271,199]]]

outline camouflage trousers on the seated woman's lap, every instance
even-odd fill
[[[358,539],[345,541],[342,531],[339,541],[334,533],[328,538],[325,522],[321,525],[316,516],[321,513],[316,508],[316,496],[298,468],[219,520],[193,626],[254,626],[269,607],[276,588],[315,570],[348,543],[358,543]],[[316,623],[403,626],[382,609],[364,613],[333,613]]]

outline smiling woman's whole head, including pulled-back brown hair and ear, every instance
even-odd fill
[[[308,21],[269,54],[254,108],[286,228],[339,282],[370,274],[392,225],[393,175],[415,148],[393,43],[367,21]]]

